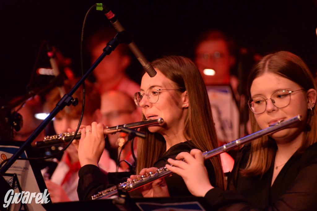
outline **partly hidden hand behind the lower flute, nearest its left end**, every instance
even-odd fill
[[[140,171],[140,175],[145,175],[146,173],[150,173],[156,171],[158,168],[151,167],[151,168],[144,168]],[[137,179],[140,175],[131,175],[130,179]],[[129,180],[129,179],[128,179]],[[167,185],[164,178],[160,178],[155,180],[150,184],[146,184],[142,187],[137,189],[143,195],[143,197],[169,197],[170,194],[167,189]]]

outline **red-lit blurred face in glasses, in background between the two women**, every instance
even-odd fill
[[[195,52],[195,63],[206,85],[229,84],[230,69],[235,59],[230,55],[224,40],[206,40],[201,42]],[[204,69],[213,69],[214,76],[207,76]]]

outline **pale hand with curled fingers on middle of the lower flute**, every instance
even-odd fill
[[[166,164],[165,167],[183,177],[192,195],[204,197],[213,187],[208,178],[202,152],[198,149],[191,150],[190,154],[188,152],[181,152],[176,156],[176,159],[178,160],[169,158],[167,161],[174,166]],[[183,159],[185,162],[180,159]]]

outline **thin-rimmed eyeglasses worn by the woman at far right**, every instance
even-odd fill
[[[301,89],[304,90],[304,89]],[[295,90],[295,91],[301,91]],[[255,114],[262,114],[266,110],[266,100],[271,100],[273,105],[277,108],[284,108],[288,106],[291,101],[291,93],[295,91],[278,90],[274,92],[270,98],[265,99],[264,97],[252,97],[248,101],[248,105],[251,111]]]

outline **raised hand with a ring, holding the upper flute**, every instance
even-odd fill
[[[81,139],[73,141],[78,150],[78,157],[81,166],[93,164],[98,166],[101,154],[105,148],[104,125],[93,122],[81,129]]]

